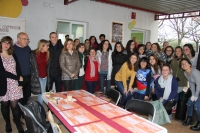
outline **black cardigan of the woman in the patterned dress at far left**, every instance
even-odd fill
[[[17,75],[14,75],[10,72],[7,72],[3,66],[3,62],[2,59],[0,57],[0,96],[4,96],[7,92],[7,78],[11,78],[14,80],[18,80],[19,82],[19,86],[21,86],[20,84],[22,82],[19,81],[19,77],[22,75],[21,74],[21,69],[17,60],[17,57],[13,54],[13,57],[15,59],[16,62],[16,72]]]

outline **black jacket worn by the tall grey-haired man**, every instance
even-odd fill
[[[63,49],[63,45],[60,39],[58,40],[56,45],[57,49],[55,50],[53,44],[51,42],[49,44],[49,52],[50,52],[49,74],[52,77],[59,77],[62,74],[62,70],[60,68],[60,63],[59,63],[59,57]]]

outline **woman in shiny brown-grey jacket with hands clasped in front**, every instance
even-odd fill
[[[68,39],[60,54],[60,68],[62,69],[62,80],[64,90],[74,90],[75,79],[78,78],[80,70],[80,61],[78,52],[74,50],[72,39]]]

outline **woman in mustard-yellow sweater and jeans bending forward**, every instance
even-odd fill
[[[137,54],[131,54],[128,60],[122,65],[120,70],[115,75],[115,85],[122,94],[120,106],[124,107],[126,103],[133,97],[133,83],[137,71]],[[128,85],[128,81],[130,82]]]

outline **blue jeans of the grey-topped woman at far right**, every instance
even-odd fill
[[[187,102],[187,114],[192,116],[193,109],[196,110],[198,121],[200,121],[200,97],[196,101],[191,101],[190,99]]]

